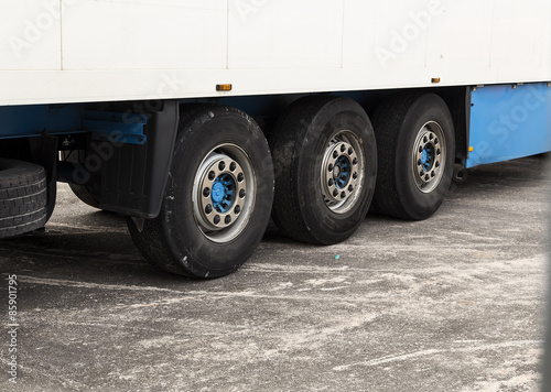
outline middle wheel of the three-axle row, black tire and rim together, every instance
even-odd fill
[[[333,244],[364,220],[377,173],[371,122],[355,101],[309,96],[285,111],[271,138],[272,217],[295,240]]]

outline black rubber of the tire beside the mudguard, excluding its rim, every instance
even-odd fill
[[[194,216],[193,186],[199,165],[212,149],[234,143],[256,171],[256,198],[248,222],[227,242],[214,242]],[[140,231],[129,219],[130,235],[142,255],[163,271],[195,279],[228,275],[241,266],[262,239],[273,200],[273,164],[268,142],[244,112],[215,105],[181,108],[170,179],[161,214]]]

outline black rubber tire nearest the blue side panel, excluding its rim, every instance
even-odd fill
[[[442,128],[446,143],[445,167],[439,185],[422,193],[413,176],[412,151],[423,124],[434,121]],[[435,94],[408,92],[391,97],[374,115],[377,138],[378,173],[375,210],[390,217],[422,220],[442,205],[452,182],[455,135],[450,109]]]

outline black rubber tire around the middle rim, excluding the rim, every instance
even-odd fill
[[[337,214],[323,197],[321,168],[333,135],[347,130],[365,155],[361,192],[350,209]],[[288,237],[314,244],[333,244],[358,229],[369,208],[377,173],[371,122],[355,101],[336,96],[307,96],[280,118],[270,140],[276,170],[272,217]]]

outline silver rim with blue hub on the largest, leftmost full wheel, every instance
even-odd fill
[[[231,143],[213,149],[193,182],[197,228],[213,242],[238,237],[252,214],[255,189],[255,171],[245,151]]]

